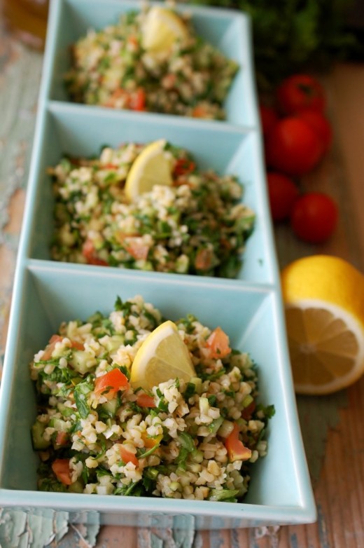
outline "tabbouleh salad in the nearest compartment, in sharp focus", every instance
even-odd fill
[[[118,297],[110,315],[62,323],[34,356],[39,489],[229,502],[244,496],[251,464],[267,453],[274,414],[257,402],[251,357],[231,350],[221,328],[211,331],[188,315],[176,326],[196,377],[133,389],[134,357],[162,321],[141,296]]]

